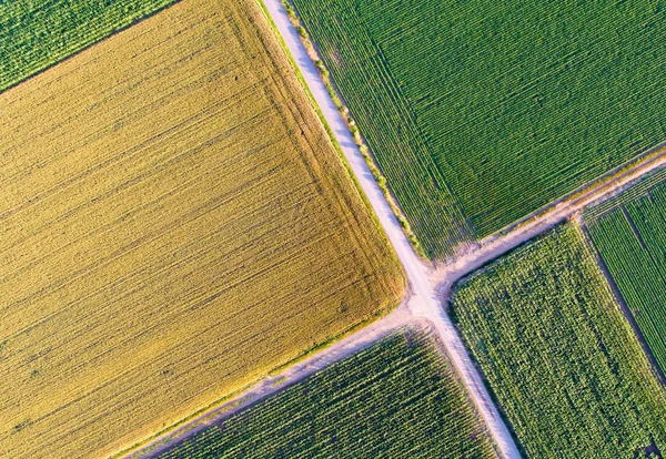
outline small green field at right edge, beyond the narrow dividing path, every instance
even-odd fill
[[[664,175],[658,174],[662,180]],[[666,182],[635,188],[625,192],[630,196],[620,194],[605,213],[588,215],[586,226],[622,299],[665,371]]]

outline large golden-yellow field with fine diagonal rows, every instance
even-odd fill
[[[0,94],[0,457],[112,455],[403,289],[254,1]]]

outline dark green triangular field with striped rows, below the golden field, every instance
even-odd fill
[[[161,458],[495,458],[448,363],[407,329],[163,452]]]

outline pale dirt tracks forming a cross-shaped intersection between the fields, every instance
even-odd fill
[[[393,211],[374,181],[365,160],[329,96],[312,59],[303,47],[296,30],[292,27],[280,0],[263,0],[263,4],[291,52],[299,68],[297,70],[305,79],[309,90],[340,144],[357,183],[389,236],[410,282],[408,294],[401,306],[390,315],[285,368],[276,376],[264,378],[223,405],[206,410],[178,428],[150,440],[140,449],[135,449],[124,457],[155,457],[161,451],[169,449],[174,443],[206,426],[218,422],[266,396],[292,386],[326,366],[369,347],[392,332],[410,325],[423,325],[434,329],[441,338],[448,359],[465,385],[477,412],[495,441],[498,452],[507,459],[519,458],[521,452],[497,407],[490,397],[482,375],[467,354],[457,329],[446,314],[446,302],[452,288],[457,280],[488,262],[511,252],[564,220],[579,217],[581,211],[586,206],[615,196],[645,174],[666,166],[666,144],[652,149],[630,167],[615,172],[614,175],[605,176],[603,182],[593,182],[587,187],[581,188],[575,195],[557,200],[549,206],[526,216],[519,223],[509,225],[503,231],[470,245],[458,257],[445,263],[426,265],[413,251]]]

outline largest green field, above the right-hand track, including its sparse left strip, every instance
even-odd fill
[[[293,1],[430,256],[666,140],[664,1]]]

